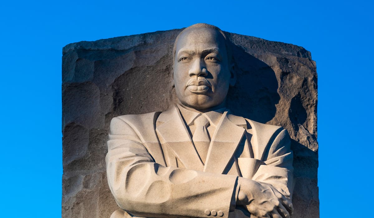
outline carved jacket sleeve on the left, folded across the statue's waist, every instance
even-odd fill
[[[138,217],[229,215],[237,176],[162,166],[148,153],[140,132],[126,116],[110,124],[107,177],[120,208]]]

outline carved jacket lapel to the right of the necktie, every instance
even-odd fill
[[[204,171],[222,174],[232,159],[244,132],[244,128],[235,125],[227,118],[227,111],[225,111],[209,145]]]

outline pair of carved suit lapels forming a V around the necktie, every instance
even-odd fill
[[[245,133],[244,126],[237,126],[231,120],[240,125],[246,123],[242,117],[230,116],[227,111],[223,112],[212,136],[205,165],[197,154],[178,107],[174,106],[160,114],[156,122],[156,131],[187,169],[222,174]]]

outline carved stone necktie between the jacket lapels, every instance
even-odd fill
[[[192,136],[192,141],[195,145],[197,153],[199,153],[200,159],[205,164],[206,155],[208,154],[209,144],[210,144],[210,137],[207,131],[207,127],[209,126],[209,120],[206,119],[203,115],[194,120],[195,131]]]

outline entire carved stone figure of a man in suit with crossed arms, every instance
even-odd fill
[[[164,112],[115,117],[107,177],[123,217],[289,217],[288,132],[227,109],[236,74],[225,34],[208,24],[174,44],[179,102]]]

